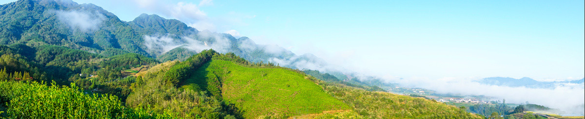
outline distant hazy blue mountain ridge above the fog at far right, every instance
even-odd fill
[[[554,88],[558,84],[573,83],[581,84],[585,82],[585,78],[581,80],[572,81],[536,81],[529,77],[522,77],[521,79],[514,79],[511,77],[488,77],[477,81],[482,84],[489,84],[495,86],[509,86],[509,87],[529,87],[536,89],[550,89]]]

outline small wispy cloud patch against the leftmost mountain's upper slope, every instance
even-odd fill
[[[66,23],[73,30],[87,32],[99,28],[105,16],[101,13],[87,13],[81,11],[57,11],[61,22]]]

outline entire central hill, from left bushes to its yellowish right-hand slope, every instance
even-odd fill
[[[131,97],[164,98],[165,95],[157,96],[161,93],[149,92],[178,87],[222,101],[228,108],[225,114],[243,118],[481,118],[461,108],[424,98],[368,91],[318,80],[300,70],[250,63],[233,53],[204,50],[184,62],[164,64],[166,68],[154,66],[147,71],[157,74],[144,75],[143,80],[147,81],[144,87],[151,89],[135,91],[141,96]],[[164,78],[161,74],[165,74]],[[152,79],[149,76],[159,78],[148,83]],[[152,89],[153,86],[167,88]],[[144,104],[140,103],[143,99],[131,100],[134,101],[128,104]],[[156,99],[149,100],[142,102]],[[164,103],[146,104],[153,104],[155,108],[164,106]]]

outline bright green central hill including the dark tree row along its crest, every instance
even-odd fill
[[[349,109],[300,70],[248,62],[233,53],[204,50],[170,66],[164,77],[165,82],[179,89],[204,91],[217,100],[235,104],[246,118]]]

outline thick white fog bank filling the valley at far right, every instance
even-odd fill
[[[405,86],[435,90],[437,93],[463,95],[485,95],[508,103],[539,104],[559,108],[567,113],[579,114],[584,111],[585,86],[581,84],[559,84],[554,89],[532,89],[480,84],[474,79],[442,78],[437,80],[412,77],[408,79],[387,78]]]

